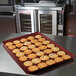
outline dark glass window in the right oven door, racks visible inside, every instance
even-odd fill
[[[40,32],[46,34],[52,34],[52,15],[50,14],[40,15]]]

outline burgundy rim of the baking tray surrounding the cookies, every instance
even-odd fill
[[[65,48],[63,48],[62,46],[60,46],[59,44],[57,44],[56,42],[54,42],[53,40],[49,39],[48,37],[46,37],[45,35],[41,34],[40,32],[35,32],[35,33],[31,33],[31,34],[28,34],[28,35],[23,35],[23,36],[20,36],[20,37],[16,37],[16,38],[13,38],[13,39],[9,39],[9,40],[5,40],[3,41],[4,45],[3,47],[6,49],[6,51],[9,53],[9,55],[15,60],[15,62],[24,70],[25,73],[31,73],[24,65],[23,63],[18,59],[18,57],[16,57],[15,54],[13,54],[11,52],[11,50],[8,49],[8,47],[5,46],[5,43],[7,42],[12,42],[14,40],[20,40],[21,38],[27,38],[28,36],[35,36],[35,35],[41,35],[42,37],[44,37],[45,39],[49,40],[51,43],[53,43],[55,46],[59,47],[61,50],[65,51],[68,55],[71,56],[70,59],[73,59],[75,57],[74,54],[72,54],[71,52],[69,52],[68,50],[66,50]],[[69,60],[69,59],[68,59]],[[64,60],[66,61],[66,60]],[[62,62],[64,62],[62,61]],[[58,64],[58,63],[56,63]],[[50,67],[50,66],[48,66]],[[45,67],[47,68],[47,67]],[[44,69],[44,68],[43,68]],[[39,69],[40,70],[40,69]]]

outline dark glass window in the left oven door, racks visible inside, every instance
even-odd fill
[[[20,14],[21,32],[32,32],[31,15]]]

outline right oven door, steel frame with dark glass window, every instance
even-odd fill
[[[38,11],[39,32],[57,35],[57,11]]]

